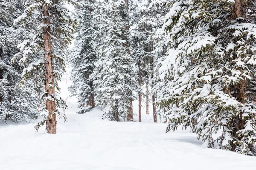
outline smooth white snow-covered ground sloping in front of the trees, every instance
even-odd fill
[[[165,124],[109,122],[99,108],[69,114],[57,134],[35,122],[0,125],[0,170],[254,170],[256,157],[208,149]],[[246,165],[246,168],[244,166]]]

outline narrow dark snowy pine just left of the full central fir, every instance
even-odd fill
[[[95,26],[95,2],[94,0],[78,0],[76,6],[76,18],[79,19],[79,26],[76,31],[76,41],[71,59],[71,80],[73,85],[69,90],[73,96],[78,98],[78,113],[82,114],[95,107],[93,94],[93,80],[90,79],[94,69],[96,57],[96,36]]]

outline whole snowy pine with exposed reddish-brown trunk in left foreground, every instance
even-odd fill
[[[73,40],[72,34],[76,29],[76,20],[70,16],[66,3],[74,4],[74,1],[25,0],[25,10],[15,20],[34,28],[33,39],[24,40],[20,45],[20,63],[26,67],[23,71],[24,82],[31,80],[38,85],[38,89],[44,84],[45,92],[41,96],[44,120],[35,128],[38,130],[46,122],[47,133],[56,133],[56,114],[66,119],[58,111],[59,108],[66,108],[66,104],[55,93],[55,90],[60,90],[57,82],[65,71],[65,50]]]

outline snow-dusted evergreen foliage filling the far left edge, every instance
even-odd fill
[[[22,67],[11,62],[17,45],[30,36],[13,21],[22,14],[22,0],[0,1],[0,121],[36,119],[37,98],[29,86],[20,86]]]

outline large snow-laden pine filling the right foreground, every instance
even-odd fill
[[[256,156],[255,6],[254,0],[172,1],[158,102],[169,107],[167,131],[192,127],[209,147]]]

